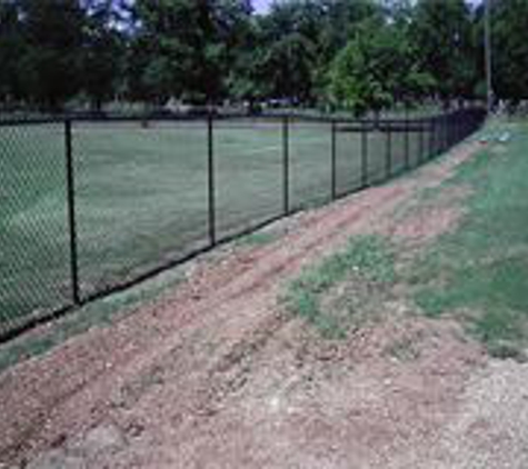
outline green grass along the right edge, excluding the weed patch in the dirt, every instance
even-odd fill
[[[497,355],[528,345],[528,126],[499,122],[485,132],[505,130],[509,142],[494,142],[444,186],[471,187],[467,213],[410,277],[426,315],[461,317]]]

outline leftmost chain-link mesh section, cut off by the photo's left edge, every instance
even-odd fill
[[[70,302],[64,131],[0,127],[0,332]]]

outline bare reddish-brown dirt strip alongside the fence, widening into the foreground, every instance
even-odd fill
[[[352,234],[412,251],[455,226],[464,190],[401,208],[476,146],[199,262],[156,306],[4,372],[0,468],[527,468],[528,366],[489,360],[404,296],[340,341],[279,300]]]

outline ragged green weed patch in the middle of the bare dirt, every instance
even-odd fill
[[[287,308],[313,325],[323,337],[343,338],[348,321],[322,310],[321,299],[332,287],[350,277],[378,285],[395,280],[393,255],[383,239],[352,238],[342,252],[306,269],[288,286]]]

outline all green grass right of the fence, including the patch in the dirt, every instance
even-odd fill
[[[506,134],[510,138],[500,141]],[[528,122],[491,122],[480,137],[490,140],[487,147],[439,188],[417,194],[422,210],[436,200],[441,203],[450,191],[469,191],[455,230],[412,251],[410,262],[393,239],[352,238],[347,250],[289,286],[289,308],[323,335],[345,336],[358,311],[372,305],[370,309],[380,309],[389,288],[389,297],[404,295],[418,312],[460,321],[490,353],[522,356],[528,348]],[[379,269],[397,273],[383,277]],[[372,282],[376,288],[361,296],[360,287]],[[333,301],[340,307],[328,307],[326,298],[338,283],[353,289]],[[352,305],[358,298],[360,305]]]

